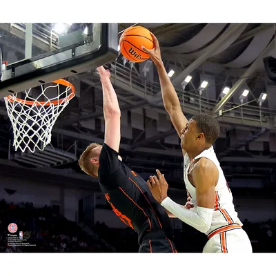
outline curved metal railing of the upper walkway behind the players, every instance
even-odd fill
[[[115,70],[115,82],[118,80],[125,83],[130,92],[139,90],[139,92],[144,93],[144,98],[146,98],[148,96],[157,95],[161,90],[159,83],[149,81],[143,76],[137,74],[135,70],[132,70],[117,61],[113,61],[111,66]],[[183,108],[188,107],[190,110],[194,110],[193,114],[198,114],[199,112],[210,113],[217,104],[217,100],[200,96],[196,91],[186,92],[179,89],[175,90],[179,97],[181,106]],[[273,119],[276,117],[276,109],[260,108],[259,106],[253,106],[250,103],[244,103],[242,106],[233,107],[233,103],[226,103],[224,106],[224,115],[254,121],[265,121],[273,124]]]

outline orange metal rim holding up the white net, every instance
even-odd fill
[[[59,103],[63,103],[64,101],[66,101],[66,99],[68,99],[68,101],[70,101],[70,99],[72,99],[72,97],[75,96],[75,87],[72,85],[72,83],[70,83],[69,81],[66,81],[65,79],[57,79],[57,81],[51,81],[52,83],[58,83],[58,84],[61,84],[63,86],[67,86],[67,87],[70,87],[71,88],[71,92],[70,92],[70,95],[64,99],[59,99],[59,100],[56,100],[56,101],[26,101],[24,99],[19,99],[19,98],[16,98],[16,99],[13,99],[13,97],[10,95],[10,96],[7,96],[6,99],[8,99],[8,101],[14,103],[14,101],[18,101],[19,103],[23,103],[23,104],[27,104],[28,106],[32,106],[33,104],[35,104],[36,106],[50,106],[50,104],[54,104],[55,106],[57,106],[57,104]]]

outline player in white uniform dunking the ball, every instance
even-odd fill
[[[159,170],[158,178],[150,177],[147,181],[152,195],[181,221],[208,235],[204,253],[252,253],[250,240],[237,217],[233,196],[212,146],[219,137],[219,124],[208,115],[195,115],[187,121],[161,60],[159,42],[153,34],[152,38],[155,48],[144,48],[144,51],[157,66],[164,107],[181,138],[184,181],[190,197],[187,204],[192,208],[184,208],[168,197],[168,184]]]

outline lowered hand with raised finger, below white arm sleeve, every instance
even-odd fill
[[[155,198],[157,202],[161,204],[161,202],[168,197],[168,183],[164,177],[164,175],[161,175],[161,172],[159,170],[156,170],[157,177],[156,176],[150,176],[150,178],[147,181],[148,188],[150,188],[150,192],[152,193],[152,196]]]

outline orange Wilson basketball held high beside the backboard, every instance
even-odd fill
[[[119,41],[121,54],[129,61],[143,62],[150,56],[141,49],[141,46],[152,49],[154,43],[150,31],[141,26],[126,29]]]

